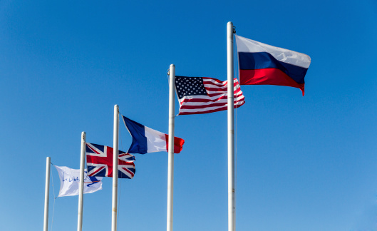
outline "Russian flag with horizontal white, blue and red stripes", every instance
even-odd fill
[[[237,35],[236,43],[239,84],[291,86],[300,88],[304,96],[309,56]]]

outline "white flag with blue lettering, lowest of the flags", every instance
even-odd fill
[[[59,167],[60,191],[58,197],[78,195],[78,183],[80,183],[80,170],[68,167]],[[87,170],[84,170],[84,193],[94,193],[102,189],[102,177],[88,177]]]

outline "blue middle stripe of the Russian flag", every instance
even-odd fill
[[[296,83],[305,83],[304,77],[307,68],[295,66],[289,63],[278,61],[274,56],[267,52],[239,52],[239,69],[240,70],[257,70],[265,68],[277,68],[286,73]]]

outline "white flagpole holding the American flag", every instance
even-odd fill
[[[175,66],[169,69],[169,147],[167,148],[167,231],[172,231],[172,205],[173,205],[173,180],[174,180],[174,103],[175,103]]]

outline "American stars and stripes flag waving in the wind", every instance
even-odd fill
[[[175,76],[180,101],[178,115],[204,114],[227,110],[227,82],[208,77]],[[244,96],[234,78],[234,108],[244,104]]]

